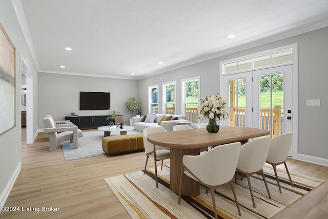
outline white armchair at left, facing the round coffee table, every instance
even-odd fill
[[[43,119],[45,124],[45,133],[49,137],[49,151],[55,151],[58,142],[70,140],[73,143],[73,149],[78,147],[78,137],[82,137],[83,133],[73,123],[69,121],[54,121],[51,115],[46,115]],[[67,122],[67,123],[66,123]],[[59,124],[55,124],[59,123]],[[59,133],[58,133],[59,132]]]

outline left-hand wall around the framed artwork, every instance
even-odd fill
[[[3,206],[21,167],[20,59],[24,57],[31,74],[36,75],[36,68],[10,0],[2,0],[0,3],[0,23],[16,48],[16,127],[0,135],[0,206]]]

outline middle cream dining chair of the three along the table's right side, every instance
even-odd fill
[[[236,170],[235,183],[237,182],[238,172],[241,173],[241,178],[243,175],[247,177],[248,186],[250,188],[253,207],[255,208],[253,190],[251,185],[251,175],[261,172],[265,188],[267,188],[269,198],[271,195],[269,192],[267,181],[265,181],[265,176],[263,173],[263,166],[265,160],[267,160],[269,148],[270,148],[270,137],[262,137],[245,143],[240,147],[239,160]]]

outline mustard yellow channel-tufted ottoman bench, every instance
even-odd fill
[[[145,150],[142,133],[103,137],[101,145],[110,155]]]

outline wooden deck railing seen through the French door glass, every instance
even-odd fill
[[[281,134],[281,109],[275,108],[279,109],[272,109],[272,116],[271,109],[260,109],[260,129],[270,131],[272,137]],[[246,119],[245,108],[229,109],[229,126],[245,127]]]

